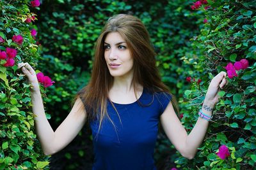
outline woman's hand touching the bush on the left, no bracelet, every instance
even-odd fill
[[[40,87],[39,87],[39,83],[36,77],[36,72],[35,70],[28,64],[28,62],[26,63],[19,63],[18,64],[18,68],[21,68],[22,72],[24,74],[26,74],[26,76],[28,77],[29,83],[31,83],[32,85],[32,91],[40,91]]]

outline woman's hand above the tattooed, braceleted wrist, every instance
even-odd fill
[[[205,101],[207,101],[207,103],[211,104],[212,106],[214,106],[219,101],[220,96],[218,96],[218,92],[220,92],[220,89],[223,89],[223,87],[226,85],[226,76],[227,73],[221,71],[211,80],[205,96]]]

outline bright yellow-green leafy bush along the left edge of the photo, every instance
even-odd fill
[[[6,60],[0,64],[0,169],[43,169],[49,164],[35,134],[30,85],[17,69],[17,62],[36,66],[39,59],[38,46],[30,33],[33,25],[24,22],[34,15],[29,5],[29,1],[0,1],[0,36],[4,39],[0,50],[17,50],[15,66],[4,67]],[[18,34],[24,38],[22,45],[12,40]]]

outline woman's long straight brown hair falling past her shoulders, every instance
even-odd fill
[[[113,76],[109,73],[104,59],[104,40],[109,32],[118,32],[124,38],[134,59],[132,85],[135,95],[138,92],[138,85],[147,88],[152,94],[155,92],[169,93],[168,87],[161,81],[157,70],[156,53],[150,43],[150,37],[145,25],[140,19],[132,15],[115,15],[109,18],[97,39],[91,80],[75,97],[75,99],[81,97],[89,119],[99,118],[99,127],[104,117],[109,118],[106,107],[109,89],[113,85]],[[138,97],[136,96],[136,98]],[[179,112],[174,96],[172,96],[172,104],[175,111]],[[109,118],[109,120],[111,119]]]

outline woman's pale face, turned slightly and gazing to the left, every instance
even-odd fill
[[[118,32],[109,32],[104,41],[104,57],[113,77],[133,75],[133,58],[127,43]]]

